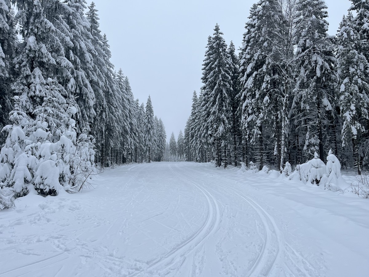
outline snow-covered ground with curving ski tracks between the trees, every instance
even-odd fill
[[[0,212],[0,276],[368,276],[369,201],[198,163]]]

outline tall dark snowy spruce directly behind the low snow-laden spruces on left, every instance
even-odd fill
[[[23,110],[31,115],[35,108],[42,105],[42,80],[54,78],[58,66],[55,58],[59,58],[54,53],[62,46],[54,35],[54,26],[44,17],[39,0],[17,2],[17,7],[21,9],[17,19],[25,43],[20,44],[20,54],[14,59],[13,91],[15,95],[21,95]]]

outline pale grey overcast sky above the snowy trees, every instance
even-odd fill
[[[88,5],[91,1],[87,0]],[[135,98],[151,95],[167,140],[184,131],[192,93],[200,91],[207,37],[216,23],[229,45],[241,46],[250,7],[257,0],[94,0],[100,30],[106,33],[115,70],[123,69]],[[349,0],[326,0],[329,33],[334,35]]]

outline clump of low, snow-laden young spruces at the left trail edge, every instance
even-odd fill
[[[77,136],[72,119],[76,108],[58,97],[51,79],[43,85],[47,92],[42,106],[33,112],[34,120],[23,111],[24,99],[14,96],[11,124],[3,129],[7,138],[0,151],[0,210],[31,190],[43,196],[76,192],[94,172],[93,137],[87,135],[88,127]]]

